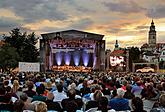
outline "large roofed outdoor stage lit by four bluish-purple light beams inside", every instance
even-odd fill
[[[41,34],[41,71],[105,69],[104,35],[77,30]]]

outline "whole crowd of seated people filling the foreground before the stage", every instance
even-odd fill
[[[1,111],[165,112],[165,78],[131,73],[1,74]]]

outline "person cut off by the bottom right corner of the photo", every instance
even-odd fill
[[[153,108],[150,112],[165,112],[165,94],[160,96],[159,103],[159,107]]]

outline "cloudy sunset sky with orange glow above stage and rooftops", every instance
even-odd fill
[[[105,35],[111,50],[116,39],[120,47],[147,43],[152,19],[165,42],[165,0],[0,0],[0,35],[76,29]]]

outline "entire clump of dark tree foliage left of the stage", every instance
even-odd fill
[[[6,72],[18,67],[18,62],[37,62],[39,52],[34,32],[27,34],[16,28],[3,35],[5,44],[0,47],[0,68]]]

